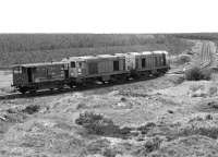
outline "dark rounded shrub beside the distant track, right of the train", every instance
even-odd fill
[[[186,70],[184,74],[187,81],[210,80],[211,71],[209,69],[201,70],[197,67],[193,67]]]

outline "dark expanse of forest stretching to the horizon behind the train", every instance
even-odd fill
[[[218,34],[0,34],[0,68],[61,60],[69,56],[189,49],[186,39],[217,40]]]

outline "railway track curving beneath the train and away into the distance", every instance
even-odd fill
[[[211,67],[214,63],[214,57],[216,53],[216,46],[211,41],[201,41],[197,43],[196,46],[193,48],[195,51],[199,53],[199,61],[201,61],[201,69],[206,69]],[[191,65],[185,68],[186,70],[191,69]],[[168,72],[167,74],[183,74],[183,70],[174,71],[174,72]],[[37,93],[27,93],[25,95],[20,93],[10,93],[5,95],[0,95],[0,99],[15,99],[15,98],[28,98],[28,97],[43,97],[43,96],[49,96],[49,95],[58,95],[58,94],[64,94],[70,92],[77,92],[77,90],[88,90],[94,88],[101,88],[101,87],[109,87],[112,85],[120,85],[120,84],[128,84],[128,83],[134,83],[138,81],[146,81],[150,78],[155,78],[156,76],[149,76],[144,78],[137,78],[137,80],[129,80],[129,81],[122,81],[117,83],[109,83],[109,84],[101,84],[101,85],[87,85],[85,87],[74,87],[74,88],[64,88],[64,89],[57,89],[57,90],[40,90]]]

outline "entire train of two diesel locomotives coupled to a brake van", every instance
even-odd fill
[[[167,51],[68,57],[59,62],[12,67],[13,84],[22,94],[39,89],[82,86],[166,73],[170,69]]]

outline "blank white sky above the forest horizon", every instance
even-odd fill
[[[217,0],[0,0],[0,33],[218,32]]]

